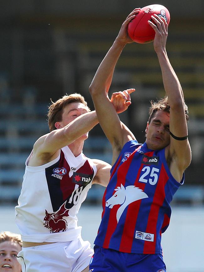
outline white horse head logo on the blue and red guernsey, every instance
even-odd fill
[[[105,205],[106,207],[112,209],[114,205],[121,204],[116,214],[117,222],[121,218],[121,215],[125,208],[127,207],[127,205],[136,200],[148,197],[148,195],[145,194],[142,191],[142,189],[135,187],[134,185],[129,185],[125,188],[121,184],[121,187],[117,187],[115,191],[116,191],[115,194],[106,201]]]

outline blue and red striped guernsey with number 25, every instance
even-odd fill
[[[111,169],[102,220],[94,244],[126,253],[162,254],[173,195],[184,183],[171,175],[165,148],[128,141]]]

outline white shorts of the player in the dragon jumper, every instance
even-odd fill
[[[90,243],[77,238],[70,242],[22,248],[17,260],[22,272],[81,272],[89,265],[93,254]]]

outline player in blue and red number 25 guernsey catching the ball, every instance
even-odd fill
[[[165,19],[154,14],[148,21],[156,33],[153,46],[167,96],[152,102],[144,144],[139,144],[121,124],[115,110],[120,109],[108,98],[117,60],[124,46],[133,42],[127,35],[128,23],[139,10],[133,10],[122,24],[89,88],[99,123],[113,148],[110,182],[103,197],[102,220],[89,266],[94,272],[166,271],[161,234],[169,226],[169,203],[184,183],[184,171],[191,162],[187,106],[166,53]],[[133,91],[114,95],[130,104]]]

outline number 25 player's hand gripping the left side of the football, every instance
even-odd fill
[[[137,13],[140,12],[140,9],[141,8],[135,8],[128,16],[127,18],[125,19],[125,21],[123,22],[122,26],[121,26],[121,29],[118,33],[118,36],[115,40],[121,42],[122,44],[127,44],[127,43],[132,43],[134,42],[129,36],[128,36],[128,33],[127,33],[127,26],[129,24],[129,22],[135,18],[135,15]]]

